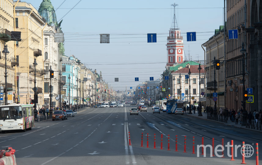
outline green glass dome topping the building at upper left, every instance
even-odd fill
[[[38,13],[45,19],[48,24],[57,25],[56,13],[50,0],[43,0],[39,6]]]

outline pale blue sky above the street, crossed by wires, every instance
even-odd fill
[[[86,68],[101,71],[114,90],[134,89],[150,77],[161,77],[174,13],[184,38],[184,60],[204,60],[201,44],[223,25],[224,18],[224,0],[50,1],[58,22],[63,20],[65,55],[73,54]],[[38,10],[42,0],[24,2]],[[196,41],[187,42],[187,32],[196,32]],[[147,43],[147,33],[156,33],[157,42]],[[100,43],[100,34],[110,34],[110,43]]]

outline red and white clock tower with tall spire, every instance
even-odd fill
[[[177,4],[172,4],[177,6]],[[174,12],[175,13],[175,12]],[[183,37],[180,35],[181,31],[177,27],[176,15],[174,14],[173,27],[169,30],[169,36],[167,37],[167,66],[173,66],[173,64],[183,63],[184,60],[184,43]]]

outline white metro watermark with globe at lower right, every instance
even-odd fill
[[[254,154],[254,148],[253,148],[252,145],[249,145],[249,144],[246,144],[244,146],[242,146],[242,145],[230,145],[230,142],[227,142],[227,144],[225,145],[225,148],[227,149],[227,156],[228,157],[232,157],[232,155],[230,154],[230,149],[231,149],[232,146],[234,146],[234,157],[238,156],[238,152],[240,152],[241,155],[246,157],[246,158],[249,158],[249,157],[253,156],[253,154]],[[197,145],[197,157],[199,157],[202,148],[203,148],[203,157],[206,157],[207,148],[209,148],[209,150],[210,150],[210,157],[213,157],[213,154],[217,157],[220,157],[220,158],[224,156],[224,154],[222,154],[224,152],[224,146],[223,145],[216,145],[216,147],[214,148],[214,153],[213,153],[212,145]],[[243,151],[243,149],[244,149],[244,151]]]

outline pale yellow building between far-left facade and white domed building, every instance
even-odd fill
[[[36,68],[36,87],[38,88],[38,106],[43,105],[43,29],[45,21],[38,11],[27,2],[18,2],[15,7],[16,30],[21,31],[22,41],[16,43],[16,55],[19,56],[17,68],[20,103],[30,103],[34,99],[34,77]],[[33,65],[36,59],[36,67]]]

